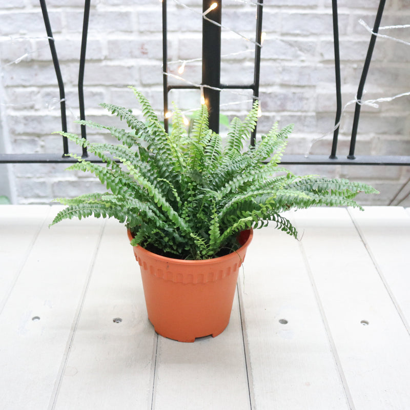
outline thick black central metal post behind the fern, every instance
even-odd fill
[[[207,13],[207,17],[215,23],[221,23],[222,0],[203,0],[203,12],[213,3],[217,7]],[[202,18],[202,85],[220,88],[221,73],[221,28]],[[220,91],[208,87],[203,88],[203,96],[209,110],[209,128],[219,132]]]

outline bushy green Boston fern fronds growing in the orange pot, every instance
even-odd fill
[[[311,206],[358,207],[361,191],[376,193],[363,183],[317,176],[296,176],[278,166],[292,127],[272,130],[255,147],[244,142],[256,126],[258,105],[241,121],[234,118],[226,143],[208,128],[202,106],[188,134],[175,110],[167,134],[148,100],[135,88],[145,121],[132,111],[101,104],[126,121],[128,129],[91,121],[80,124],[108,130],[120,144],[97,144],[75,134],[61,133],[98,156],[105,165],[85,158],[70,170],[94,173],[108,192],[57,198],[68,207],[52,224],[72,217],[114,217],[134,235],[133,245],[180,259],[208,259],[238,248],[242,230],[269,222],[297,237],[282,211]]]

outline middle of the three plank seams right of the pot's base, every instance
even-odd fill
[[[325,328],[325,331],[326,331],[327,340],[329,341],[330,350],[332,352],[333,359],[335,361],[336,368],[337,368],[338,373],[339,373],[340,381],[341,381],[342,386],[343,386],[343,390],[344,390],[344,394],[346,396],[347,404],[348,404],[348,406],[350,407],[351,410],[356,410],[355,404],[353,402],[353,397],[352,397],[352,394],[351,394],[350,389],[348,387],[346,376],[344,375],[343,367],[342,367],[339,355],[337,353],[336,344],[335,344],[335,341],[333,340],[333,337],[332,337],[332,332],[330,330],[329,322],[327,321],[326,314],[324,312],[324,308],[323,308],[322,301],[320,299],[319,291],[317,289],[316,282],[315,282],[312,270],[311,270],[310,265],[309,265],[308,256],[306,255],[306,252],[303,248],[303,244],[302,244],[301,241],[299,241],[299,247],[300,247],[300,251],[301,251],[301,254],[302,254],[302,257],[303,257],[303,261],[304,261],[304,264],[305,264],[305,267],[306,267],[306,271],[308,272],[308,276],[309,276],[309,280],[310,280],[311,285],[312,285],[313,292],[315,294],[316,303],[317,303],[318,308],[319,308],[320,316],[322,318],[322,322],[323,322],[323,325],[324,325],[324,328]]]

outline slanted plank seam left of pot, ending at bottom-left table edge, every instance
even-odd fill
[[[61,384],[63,383],[63,377],[64,377],[64,373],[65,373],[65,370],[66,370],[66,367],[67,367],[68,358],[70,356],[71,347],[72,347],[73,342],[74,342],[74,337],[75,337],[77,326],[78,326],[78,323],[79,323],[79,320],[80,320],[81,312],[83,311],[85,299],[86,299],[86,296],[87,296],[87,291],[88,291],[90,281],[91,281],[91,276],[92,276],[92,273],[93,273],[93,270],[94,270],[94,264],[95,264],[96,256],[97,256],[100,244],[101,244],[101,239],[103,238],[103,233],[104,233],[105,227],[106,227],[106,220],[104,220],[103,224],[101,224],[101,227],[100,227],[97,243],[95,245],[94,252],[93,252],[92,257],[91,257],[91,263],[90,263],[90,267],[88,269],[87,279],[86,279],[86,282],[84,284],[83,292],[81,293],[81,296],[80,296],[77,311],[75,312],[75,315],[74,315],[74,320],[73,320],[73,324],[71,326],[70,334],[68,336],[66,349],[65,349],[65,352],[63,354],[63,359],[61,359],[60,368],[59,368],[59,371],[58,371],[58,374],[57,374],[57,377],[56,377],[53,392],[52,392],[51,397],[50,397],[50,402],[49,402],[49,406],[48,406],[49,410],[54,410],[54,408],[57,404],[58,393],[60,391]]]

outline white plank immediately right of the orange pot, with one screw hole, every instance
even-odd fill
[[[253,408],[348,409],[299,243],[255,231],[240,289]]]

